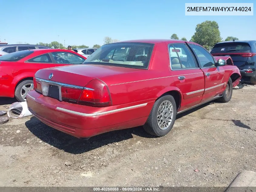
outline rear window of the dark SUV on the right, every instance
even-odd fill
[[[225,52],[250,52],[250,45],[245,42],[229,42],[219,43],[214,45],[211,53],[225,53]]]

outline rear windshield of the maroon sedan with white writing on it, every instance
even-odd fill
[[[84,64],[146,69],[153,47],[150,43],[111,43],[93,52]]]

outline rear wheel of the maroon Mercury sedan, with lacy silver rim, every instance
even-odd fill
[[[173,96],[162,96],[155,102],[143,128],[153,136],[165,136],[174,125],[176,113],[177,108]]]

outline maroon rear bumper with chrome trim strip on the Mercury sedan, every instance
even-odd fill
[[[30,91],[29,111],[43,123],[72,136],[91,137],[112,130],[143,125],[153,102],[110,107],[91,107],[60,102]]]

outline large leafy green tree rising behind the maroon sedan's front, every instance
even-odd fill
[[[216,21],[204,21],[196,26],[195,31],[190,41],[198,43],[208,50],[222,40]]]

